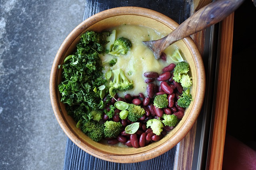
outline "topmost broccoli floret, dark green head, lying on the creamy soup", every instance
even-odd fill
[[[132,47],[132,42],[127,38],[120,37],[114,42],[112,51],[109,54],[116,56],[124,55],[129,51],[130,47]]]

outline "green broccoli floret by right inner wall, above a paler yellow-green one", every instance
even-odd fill
[[[189,71],[189,64],[182,61],[178,63],[173,71],[173,80],[176,82],[180,82],[182,74],[187,74]]]

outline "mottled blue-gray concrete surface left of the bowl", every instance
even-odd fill
[[[66,135],[54,116],[50,70],[85,0],[0,0],[0,169],[63,169]]]

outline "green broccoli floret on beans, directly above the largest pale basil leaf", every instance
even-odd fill
[[[129,104],[127,110],[129,112],[128,119],[132,122],[138,121],[138,119],[146,113],[146,111],[142,107],[135,104]]]

